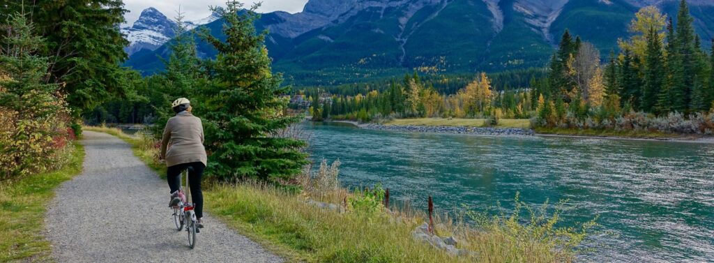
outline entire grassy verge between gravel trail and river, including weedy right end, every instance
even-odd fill
[[[116,134],[132,145],[138,157],[164,174],[166,168],[155,158],[151,139],[129,136],[120,129],[86,130]],[[531,213],[531,223],[525,225],[521,222],[528,219],[513,216],[518,212],[471,217],[478,222],[476,226],[436,217],[438,236],[453,235],[459,240],[458,248],[478,254],[476,258],[454,257],[413,239],[411,232],[426,218],[422,212],[387,212],[378,200],[363,198],[366,194],[361,192],[335,189],[296,194],[254,183],[208,183],[203,193],[207,212],[291,262],[572,262],[573,246],[585,237],[584,232],[553,227],[558,214]],[[332,204],[359,199],[359,205],[367,204],[367,209],[350,201],[348,212],[336,212],[308,204],[307,199]]]

